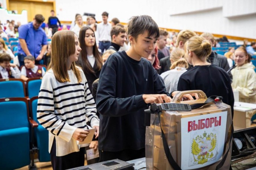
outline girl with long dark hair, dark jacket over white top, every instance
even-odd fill
[[[92,91],[92,83],[99,78],[101,72],[101,53],[98,51],[95,34],[91,27],[82,27],[79,35],[82,50],[78,58],[78,64],[82,67],[89,89]]]

